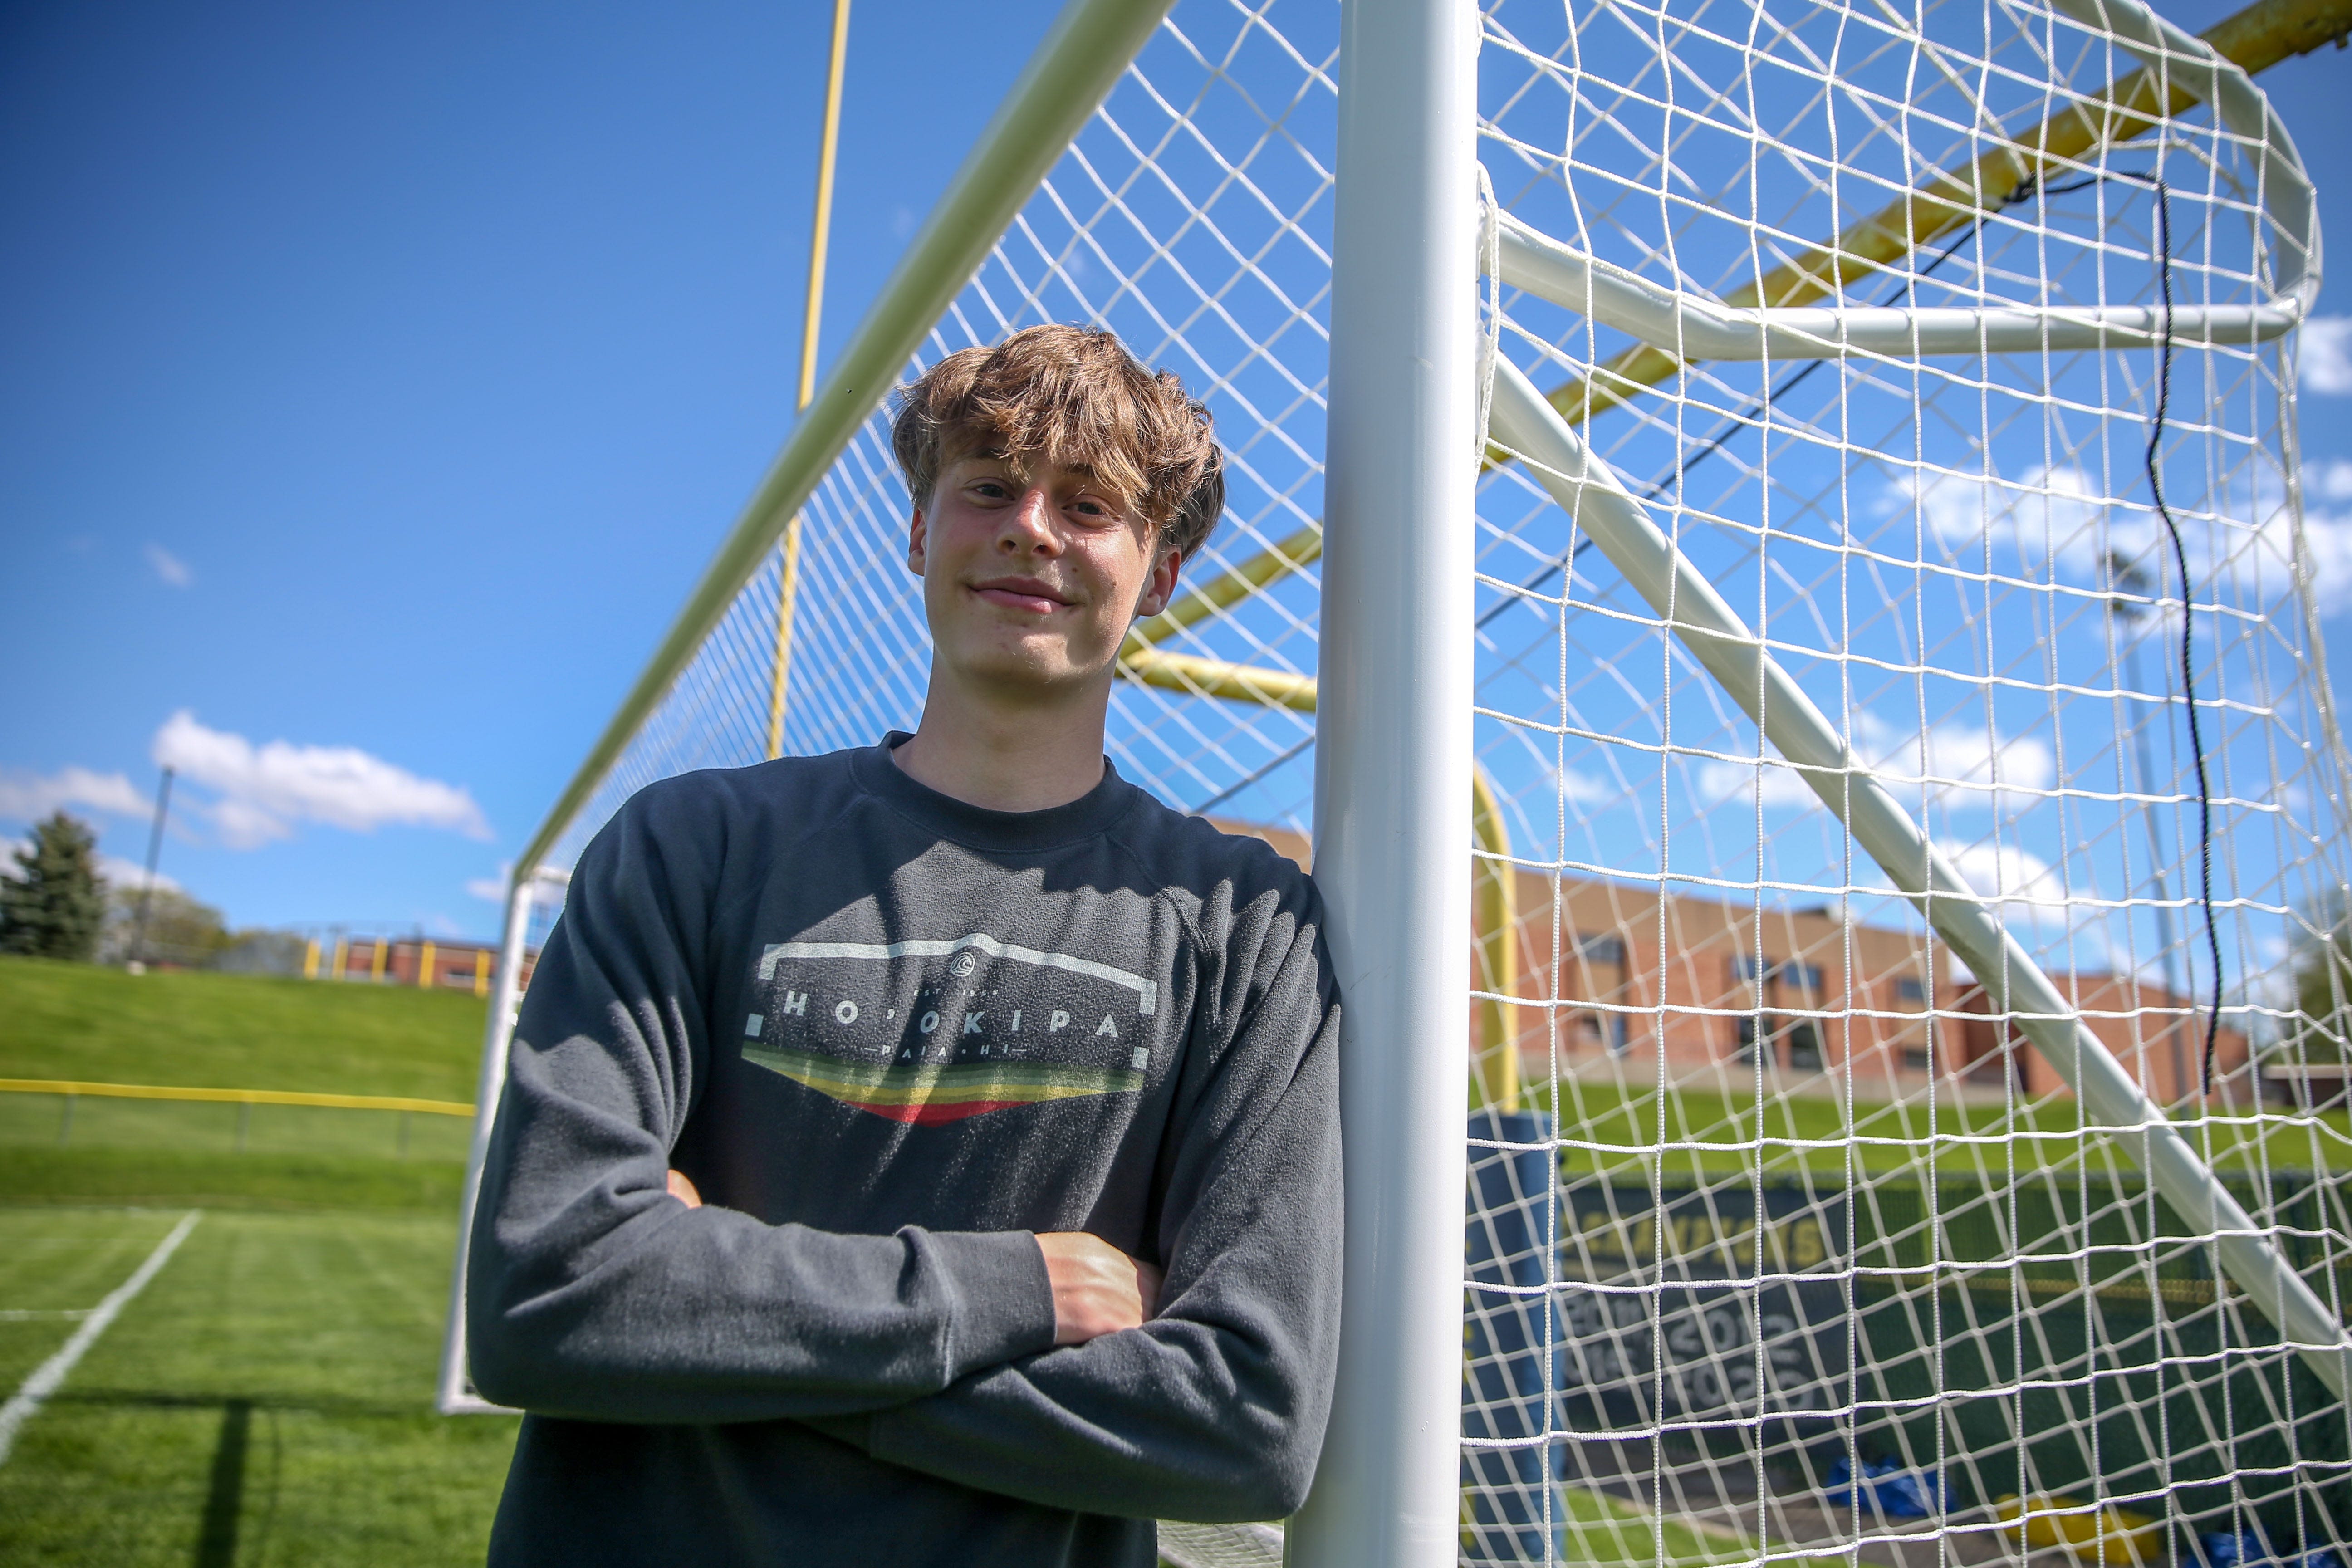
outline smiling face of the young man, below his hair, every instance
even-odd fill
[[[1108,679],[1127,628],[1176,592],[1152,534],[1084,468],[946,463],[906,548],[936,665],[1035,696]]]

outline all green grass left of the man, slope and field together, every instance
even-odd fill
[[[0,1077],[468,1100],[480,1032],[463,994],[0,959]],[[515,1420],[433,1413],[470,1124],[400,1121],[0,1095],[0,1396],[202,1211],[16,1434],[0,1563],[482,1561]]]

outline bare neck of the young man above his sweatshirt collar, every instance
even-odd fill
[[[915,783],[988,811],[1068,806],[1103,783],[1108,689],[1021,708],[990,696],[943,691],[934,672],[922,724],[891,762]]]

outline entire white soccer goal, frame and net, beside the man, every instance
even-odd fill
[[[2286,132],[2138,5],[1077,0],[522,875],[767,755],[795,512],[783,748],[908,724],[882,395],[1108,324],[1232,454],[1110,750],[1402,976],[1294,1561],[2340,1547],[2352,1133],[2260,1098],[2340,1051],[2314,284]]]

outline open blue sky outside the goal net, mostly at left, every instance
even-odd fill
[[[863,0],[828,348],[1051,9]],[[492,933],[468,884],[790,430],[828,19],[0,14],[0,835],[66,802],[136,860],[167,755],[165,872],[233,922]],[[2347,66],[2263,78],[2321,179]],[[2321,212],[2343,252],[2352,183]]]

